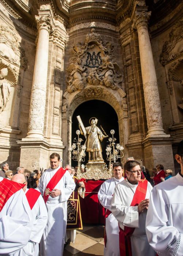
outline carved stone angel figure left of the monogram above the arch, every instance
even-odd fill
[[[77,59],[75,64],[70,64],[66,69],[66,71],[70,72],[70,80],[68,81],[69,85],[67,87],[69,93],[84,89],[87,76],[87,74],[84,73],[85,69],[80,58]]]

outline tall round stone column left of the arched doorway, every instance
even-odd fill
[[[46,83],[49,54],[49,35],[52,30],[50,16],[36,16],[38,42],[31,92],[28,133],[26,138],[43,139],[45,119]]]

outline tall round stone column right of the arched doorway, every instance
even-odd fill
[[[136,11],[133,27],[137,29],[144,89],[148,136],[165,135],[161,116],[160,97],[157,86],[155,64],[148,33],[148,20],[151,12]]]

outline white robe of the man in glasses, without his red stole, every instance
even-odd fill
[[[111,211],[114,217],[118,220],[119,226],[124,230],[124,226],[134,227],[135,230],[131,235],[131,251],[132,256],[139,255],[156,255],[155,251],[150,247],[148,238],[145,232],[145,220],[147,210],[138,213],[138,206],[130,206],[137,185],[133,185],[126,180],[123,180],[114,189],[114,195],[111,202]],[[148,182],[145,198],[150,197],[152,186]]]

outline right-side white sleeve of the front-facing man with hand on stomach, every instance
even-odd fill
[[[61,190],[60,202],[65,202],[69,199],[69,196],[73,192],[76,187],[76,184],[73,178],[70,176],[69,172],[65,172],[64,174],[64,189]]]

